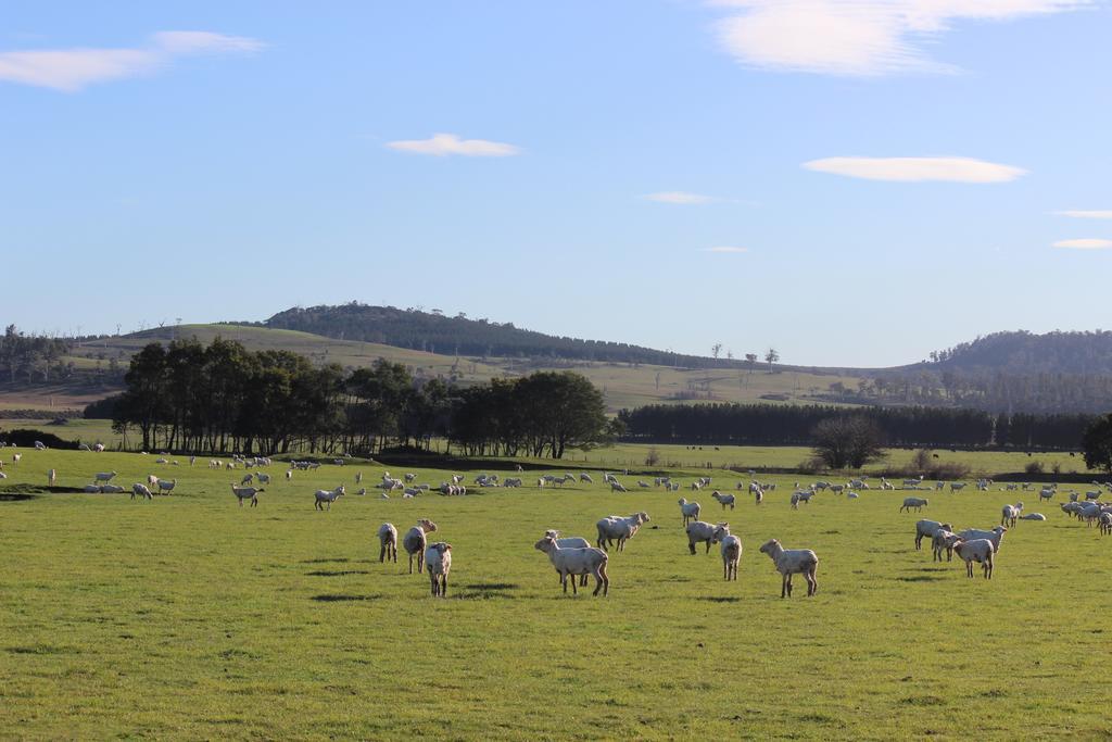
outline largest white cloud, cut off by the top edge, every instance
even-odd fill
[[[1006,21],[1094,0],[712,0],[737,9],[718,40],[744,65],[782,71],[876,76],[953,71],[923,47],[956,21]]]

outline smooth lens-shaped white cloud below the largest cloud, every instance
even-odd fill
[[[901,182],[1007,182],[1026,174],[1022,168],[969,157],[827,157],[804,162],[803,167],[850,178]]]

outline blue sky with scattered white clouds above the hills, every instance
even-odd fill
[[[1095,329],[1110,38],[1102,0],[21,3],[0,315],[358,299],[853,366]]]

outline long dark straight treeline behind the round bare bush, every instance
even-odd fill
[[[649,405],[623,409],[625,439],[647,443],[810,445],[823,419],[864,416],[887,446],[1013,447],[1080,451],[1094,415],[991,414],[931,407],[846,408],[823,405]]]

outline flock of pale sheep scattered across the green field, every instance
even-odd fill
[[[36,448],[44,448],[41,444],[37,444]],[[98,448],[98,449],[102,449]],[[22,454],[13,454],[11,457],[12,464],[18,465],[22,459]],[[160,457],[156,463],[177,465],[178,462],[170,461],[165,457]],[[196,457],[190,457],[190,466],[196,463]],[[337,465],[344,465],[344,459],[336,459],[334,462]],[[250,502],[251,507],[258,505],[258,494],[264,492],[262,484],[270,484],[271,476],[266,472],[260,469],[268,467],[272,464],[270,458],[267,457],[241,457],[235,456],[229,462],[221,462],[219,459],[210,459],[209,468],[219,469],[235,469],[242,468],[247,469],[240,483],[237,485],[231,484],[232,494],[236,496],[239,505],[242,506],[245,501]],[[2,469],[3,463],[0,462],[0,469]],[[316,469],[320,466],[316,462],[290,462],[289,468],[286,472],[286,479],[290,481],[296,471],[307,471]],[[520,471],[520,468],[518,468]],[[626,473],[628,474],[628,473]],[[755,473],[751,472],[751,476]],[[7,475],[0,471],[0,477],[6,477]],[[48,472],[48,482],[50,485],[54,485],[57,481],[57,471],[51,468]],[[122,493],[123,487],[111,484],[111,481],[117,476],[116,472],[98,472],[93,475],[93,481],[85,487],[85,492],[90,493]],[[401,479],[394,478],[390,474],[384,473],[379,487],[381,488],[381,497],[388,498],[389,494],[396,489],[403,491],[403,497],[416,497],[423,493],[435,491],[439,492],[441,495],[466,495],[467,486],[464,483],[463,475],[453,475],[449,482],[443,482],[439,487],[431,487],[430,485],[416,485],[414,484],[417,478],[417,474],[407,473]],[[578,477],[572,474],[564,475],[545,475],[537,479],[537,487],[546,486],[562,486],[566,483],[574,482],[593,483],[594,479],[587,473],[580,473]],[[607,483],[612,492],[628,492],[627,488],[617,479],[616,475],[604,473],[603,481]],[[357,472],[355,475],[355,483],[358,485],[363,482],[363,473]],[[523,486],[523,481],[520,477],[506,477],[499,479],[497,474],[479,474],[474,479],[475,485],[479,487],[520,487]],[[649,487],[664,487],[667,491],[675,492],[679,489],[681,484],[673,481],[671,477],[662,476],[656,477],[652,484],[645,481],[638,481],[638,486],[643,488]],[[712,484],[711,477],[698,477],[692,482],[688,486],[692,492],[698,492],[705,487],[709,487]],[[903,489],[944,489],[946,483],[936,482],[933,486],[925,484],[923,477],[914,479],[905,479],[903,483]],[[991,479],[979,479],[976,482],[976,488],[979,491],[987,491],[993,482]],[[1112,505],[1105,505],[1099,502],[1099,498],[1103,492],[1103,488],[1112,489],[1112,483],[1100,483],[1094,482],[1096,489],[1089,491],[1084,493],[1084,499],[1081,499],[1081,493],[1075,491],[1068,491],[1070,502],[1063,503],[1061,509],[1063,513],[1074,516],[1079,520],[1085,521],[1090,526],[1096,523],[1100,526],[1100,531],[1104,535],[1112,534]],[[136,483],[131,488],[131,498],[136,499],[151,499],[155,492],[160,494],[170,494],[173,492],[177,485],[177,479],[163,479],[157,475],[149,475],[146,484]],[[737,489],[747,491],[754,496],[754,503],[759,505],[764,499],[764,493],[775,489],[774,483],[759,483],[756,479],[748,482],[738,482]],[[950,491],[952,493],[960,492],[964,488],[965,483],[953,482],[950,483]],[[895,489],[895,485],[890,483],[884,477],[881,477],[880,487],[882,489]],[[868,489],[870,484],[867,477],[860,477],[851,479],[845,484],[832,483],[832,482],[816,482],[806,487],[801,487],[797,482],[794,487],[788,502],[794,509],[798,509],[801,504],[807,504],[812,498],[822,492],[830,492],[835,495],[845,495],[847,498],[853,499],[858,497],[857,491]],[[1001,487],[1002,491],[1015,491],[1032,489],[1032,485],[1024,484],[1007,484]],[[360,488],[358,494],[366,494],[366,488]],[[318,489],[315,493],[315,507],[318,511],[331,509],[331,505],[338,498],[346,494],[346,486],[340,484],[335,489]],[[1052,499],[1058,494],[1056,485],[1048,485],[1039,491],[1040,502]],[[731,493],[723,493],[714,491],[711,494],[725,511],[727,507],[734,509],[736,507],[736,497]],[[742,557],[743,546],[741,538],[736,535],[731,534],[728,523],[708,523],[701,520],[702,506],[697,502],[689,502],[686,497],[681,497],[677,502],[682,518],[682,526],[687,536],[687,545],[691,554],[696,554],[696,547],[699,544],[705,545],[705,553],[709,553],[711,547],[715,544],[718,545],[719,554],[723,563],[723,578],[726,581],[737,580],[737,566]],[[900,511],[911,512],[912,509],[920,512],[923,507],[929,506],[929,499],[920,496],[907,496],[903,499],[900,506]],[[1023,503],[1006,504],[1001,511],[1001,523],[991,530],[981,528],[965,528],[963,531],[955,531],[950,523],[940,523],[937,521],[921,520],[915,524],[915,550],[922,550],[922,543],[924,540],[930,540],[932,554],[934,561],[942,561],[942,554],[945,552],[946,561],[952,561],[953,554],[957,554],[959,558],[965,563],[966,575],[972,577],[974,573],[973,564],[977,563],[982,566],[982,571],[985,578],[992,578],[993,571],[995,566],[996,555],[1000,553],[1001,543],[1003,541],[1004,534],[1007,533],[1009,528],[1014,528],[1019,521],[1045,521],[1046,517],[1041,513],[1026,513],[1023,512]],[[592,545],[586,538],[583,537],[565,537],[562,536],[559,531],[549,530],[545,535],[534,544],[535,548],[544,552],[553,567],[556,570],[560,578],[560,584],[563,591],[567,592],[567,583],[570,577],[572,591],[577,594],[578,586],[584,586],[587,584],[587,578],[593,576],[595,578],[595,590],[594,595],[598,595],[599,592],[603,595],[607,595],[609,592],[609,575],[607,573],[607,565],[609,561],[610,548],[617,552],[625,551],[626,543],[633,538],[641,527],[651,521],[649,516],[645,512],[634,513],[628,516],[610,515],[600,518],[596,523],[597,537],[595,544]],[[655,527],[655,526],[654,526]],[[414,525],[409,531],[406,532],[405,536],[401,537],[401,547],[409,556],[409,573],[413,574],[414,560],[417,561],[417,572],[421,573],[427,570],[431,594],[434,596],[444,597],[447,595],[448,590],[448,574],[451,570],[451,545],[445,542],[429,543],[427,534],[437,531],[437,525],[427,518],[421,518]],[[378,538],[380,544],[379,561],[397,562],[398,555],[398,530],[391,523],[384,523],[378,530]],[[785,548],[780,541],[773,538],[764,543],[759,547],[759,552],[766,554],[773,562],[776,571],[781,574],[781,597],[791,597],[792,595],[792,578],[796,574],[802,574],[807,583],[807,595],[814,595],[818,590],[818,583],[816,580],[816,572],[818,568],[818,557],[815,552],[808,548]]]

